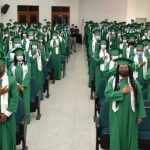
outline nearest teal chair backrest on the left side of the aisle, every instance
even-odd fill
[[[24,102],[21,97],[19,97],[18,109],[15,115],[16,115],[16,125],[18,126],[25,117]]]

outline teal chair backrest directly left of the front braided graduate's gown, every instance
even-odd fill
[[[104,100],[101,103],[99,117],[100,128],[109,128],[109,106],[110,103],[108,100]]]

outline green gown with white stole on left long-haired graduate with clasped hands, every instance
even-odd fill
[[[19,91],[19,96],[23,98],[25,113],[27,117],[27,123],[30,123],[30,78],[31,78],[31,70],[30,64],[26,65],[17,65],[14,64],[9,69],[11,75],[14,76],[17,83],[22,84],[24,87],[23,91]]]

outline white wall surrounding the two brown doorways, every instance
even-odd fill
[[[4,23],[9,19],[17,21],[17,5],[39,5],[40,22],[44,19],[51,21],[51,6],[70,6],[70,23],[79,25],[79,0],[2,0],[3,4],[9,4],[7,14],[2,15]]]

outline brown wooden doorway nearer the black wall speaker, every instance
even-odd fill
[[[18,6],[18,22],[28,24],[39,22],[39,6]]]

